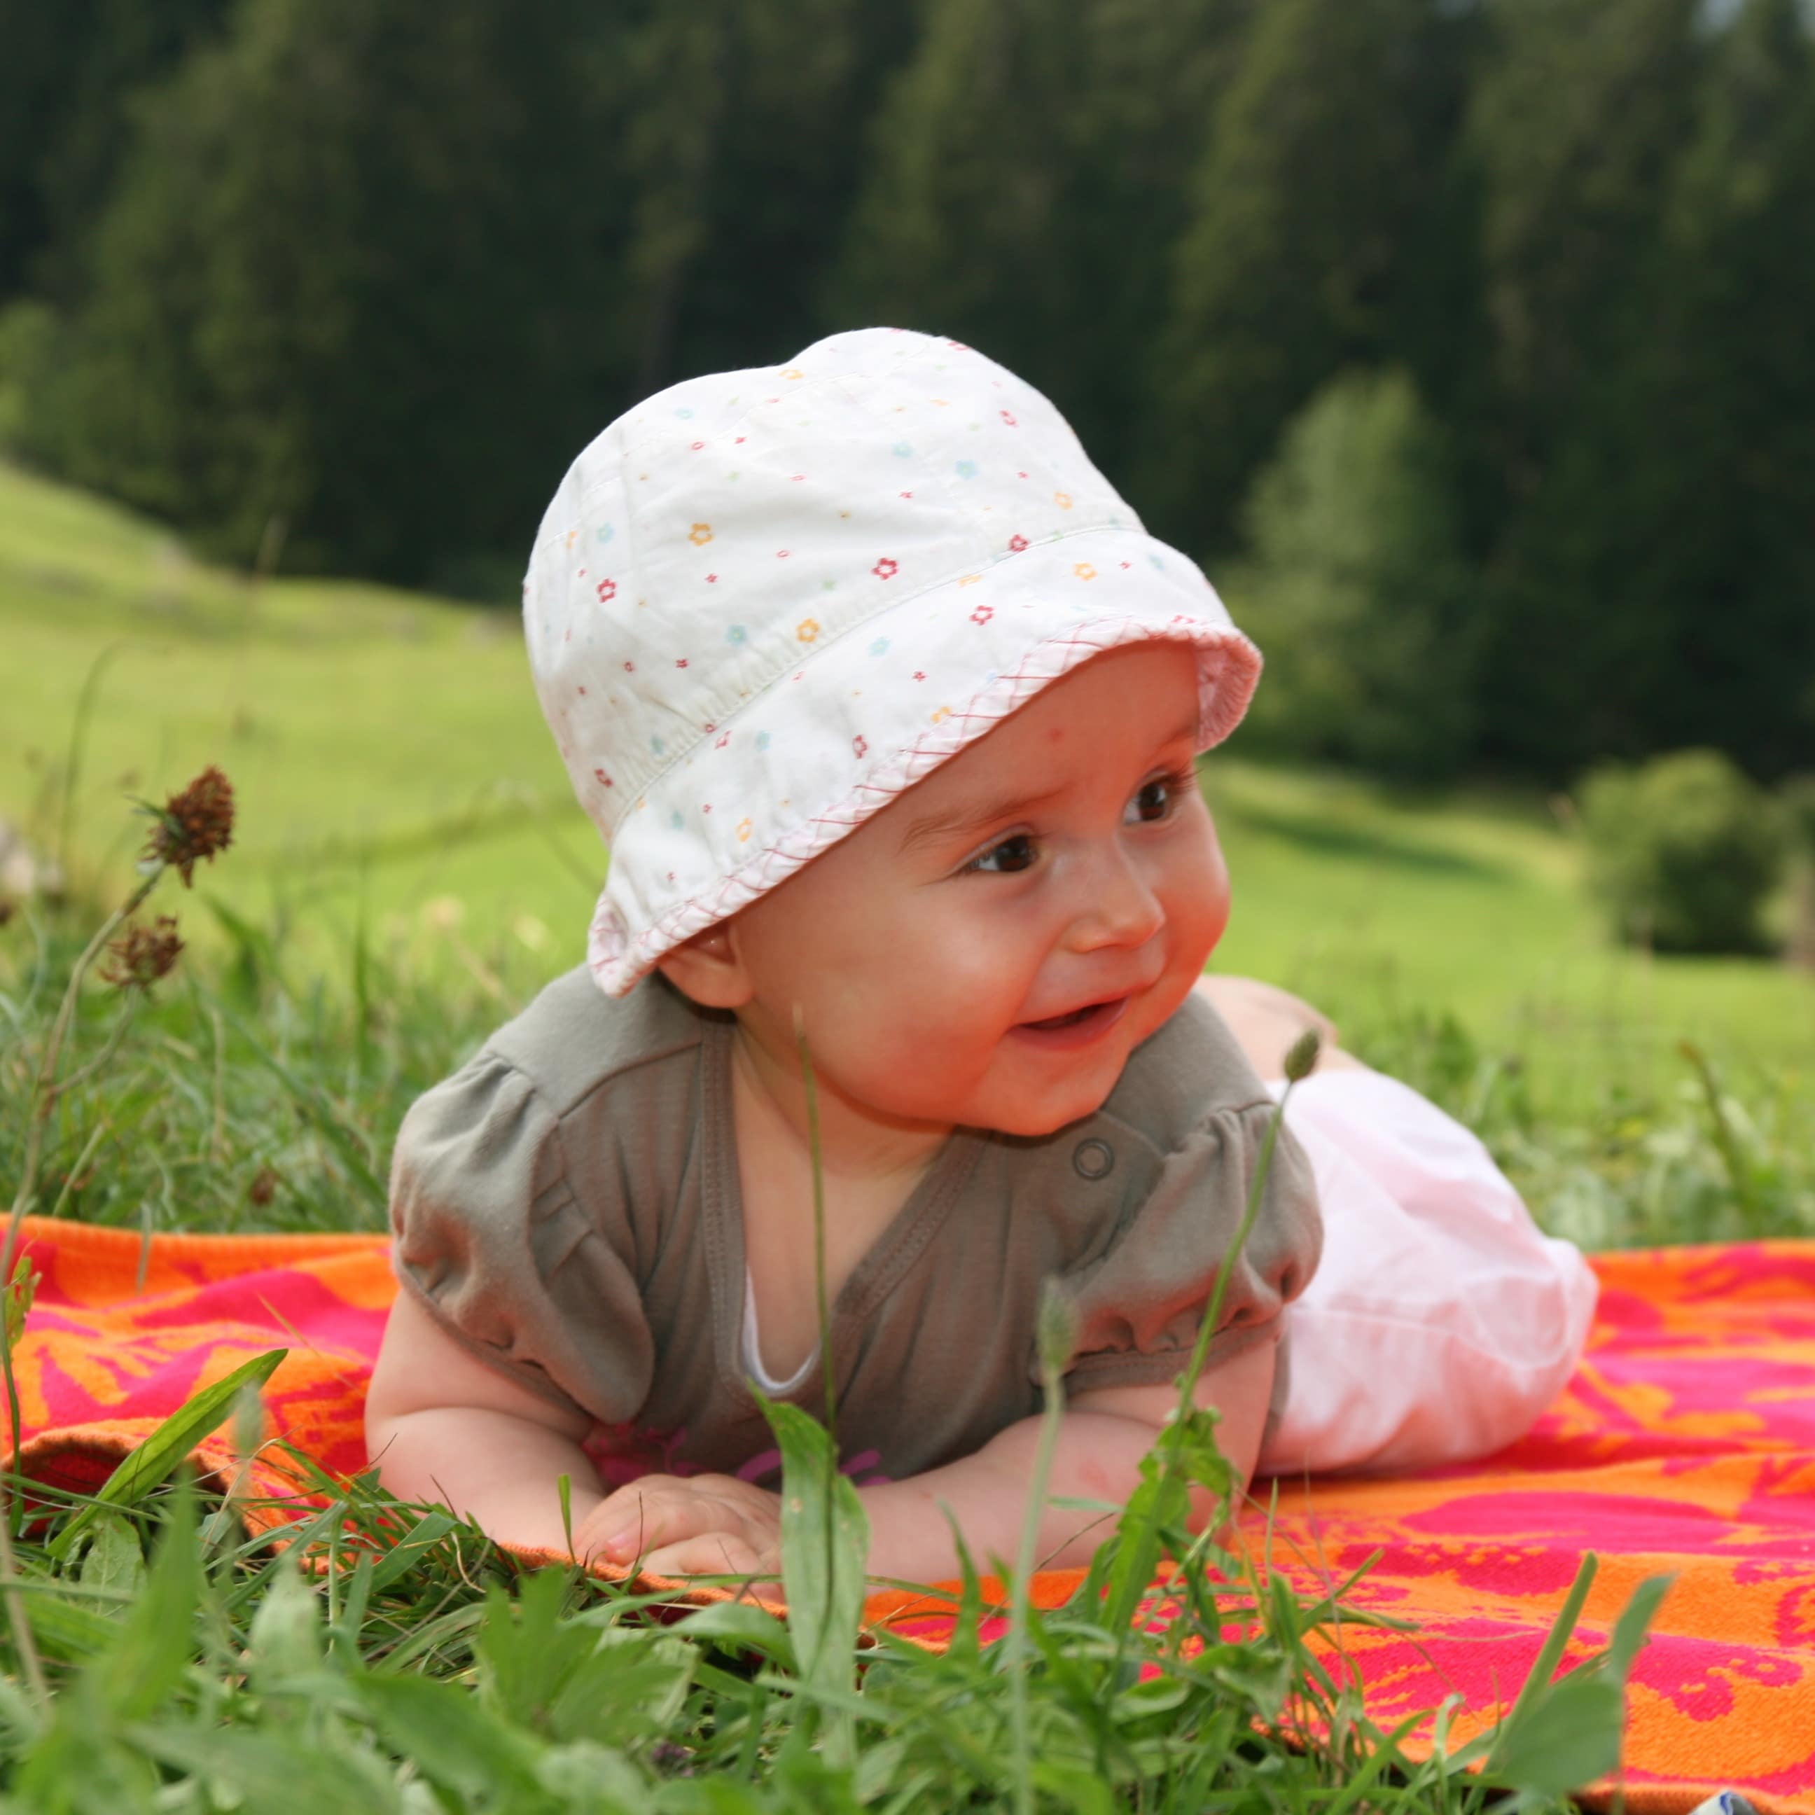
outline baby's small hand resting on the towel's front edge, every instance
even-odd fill
[[[773,1575],[780,1570],[780,1496],[737,1476],[643,1476],[599,1501],[574,1532],[581,1563],[650,1575]]]

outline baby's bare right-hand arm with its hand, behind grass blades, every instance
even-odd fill
[[[1212,1405],[1223,1414],[1218,1441],[1243,1483],[1260,1454],[1272,1363],[1272,1343],[1256,1343],[1205,1370],[1198,1381],[1198,1405]],[[1042,1565],[1082,1563],[1107,1535],[1100,1516],[1058,1508],[1051,1499],[1123,1505],[1140,1481],[1142,1457],[1174,1405],[1178,1388],[1171,1383],[1100,1387],[1071,1401],[1047,1481],[1049,1505],[1040,1519]],[[958,1552],[942,1506],[949,1508],[980,1565],[1013,1557],[1038,1439],[1040,1419],[1025,1418],[975,1456],[906,1481],[862,1488],[869,1514],[869,1574],[906,1581],[957,1575]],[[1209,1497],[1198,1496],[1194,1523],[1209,1512]],[[610,1496],[588,1521],[588,1543],[581,1548],[603,1541],[603,1555],[612,1563],[630,1565],[641,1557],[655,1575],[773,1574],[780,1561],[779,1535],[780,1501],[773,1494],[719,1476],[688,1481],[657,1476]]]

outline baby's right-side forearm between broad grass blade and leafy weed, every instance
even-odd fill
[[[1140,1461],[1156,1432],[1109,1412],[1067,1412],[1060,1427],[1047,1506],[1040,1514],[1036,1561],[1067,1568],[1089,1559],[1107,1535],[1100,1514],[1053,1506],[1053,1499],[1127,1503],[1140,1481]],[[958,1552],[944,1508],[949,1508],[978,1568],[1013,1563],[1020,1548],[1027,1490],[1033,1481],[1040,1419],[1009,1425],[975,1456],[929,1468],[908,1481],[862,1490],[869,1514],[869,1574],[908,1581],[944,1581],[958,1574]]]

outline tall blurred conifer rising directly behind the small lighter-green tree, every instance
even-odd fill
[[[1270,0],[1192,183],[1151,363],[1140,495],[1227,546],[1280,423],[1390,345],[1405,254],[1437,200],[1465,20],[1430,0]]]

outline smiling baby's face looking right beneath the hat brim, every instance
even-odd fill
[[[1196,726],[1180,643],[1053,682],[737,917],[746,1035],[793,1069],[800,1004],[822,1089],[891,1123],[1091,1114],[1229,920]]]

